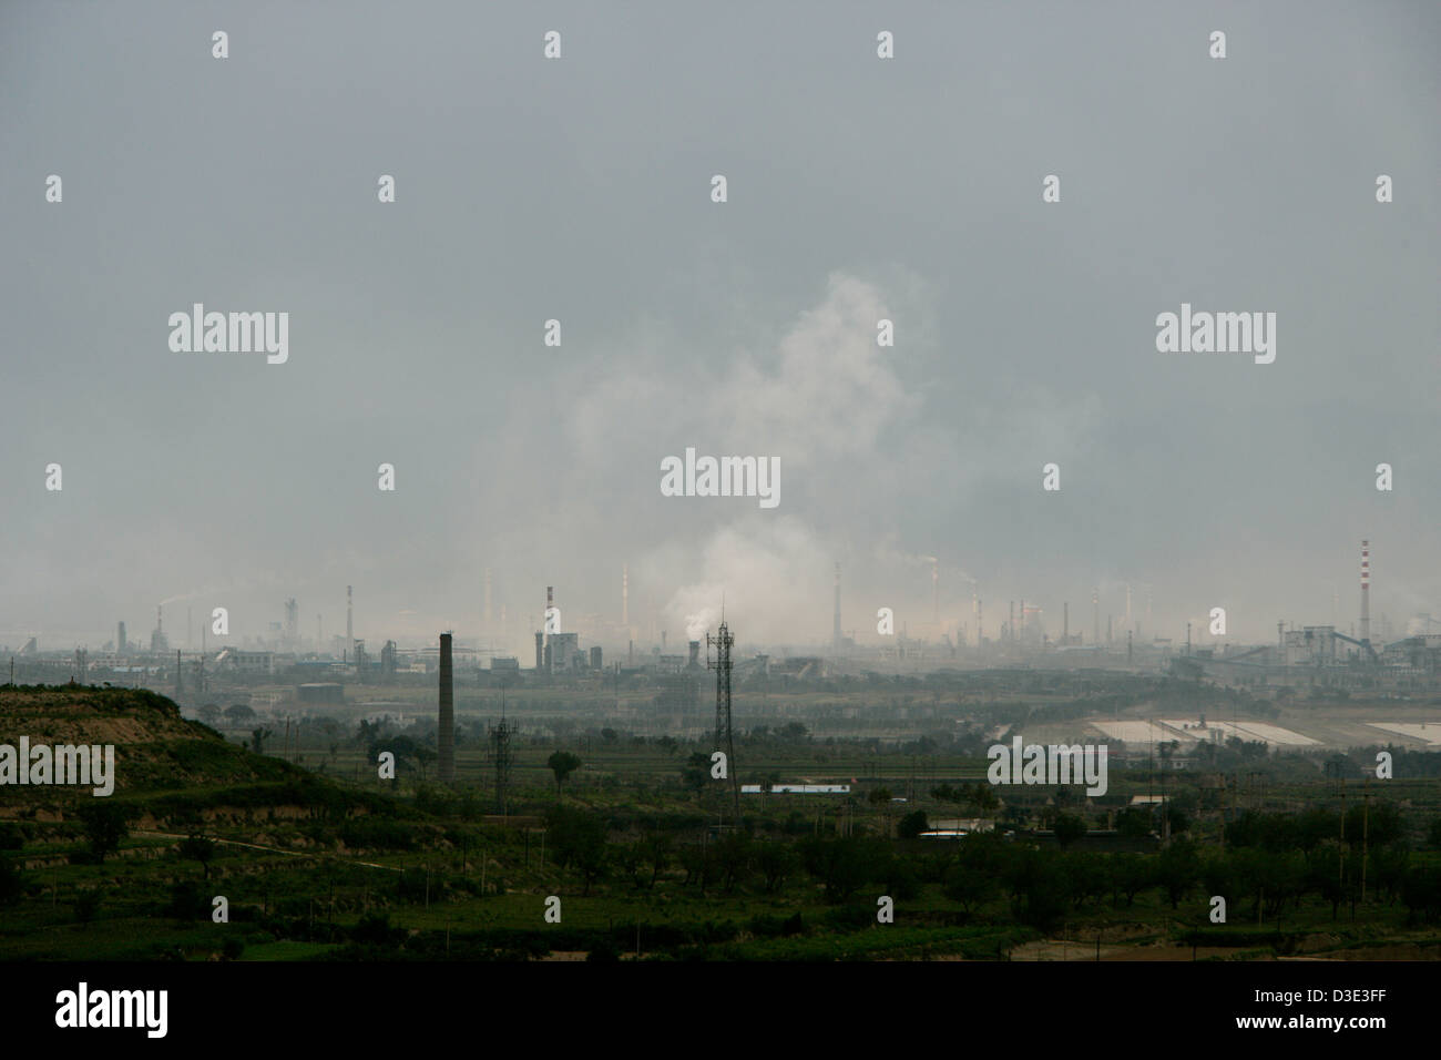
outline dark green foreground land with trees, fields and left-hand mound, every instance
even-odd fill
[[[745,796],[736,823],[705,744],[607,730],[522,744],[532,770],[497,813],[493,786],[421,779],[424,738],[340,734],[321,776],[138,695],[97,708],[141,725],[114,796],[6,789],[0,958],[1441,956],[1441,754],[1362,783],[1369,753],[1222,747],[1245,764],[1174,770],[1164,802],[1133,805],[1159,789],[1148,764],[1112,769],[1104,799],[993,789],[944,737],[821,747],[798,727],[742,741],[757,782],[863,779]],[[24,710],[9,702],[0,743]],[[386,748],[405,753],[396,782],[372,779]],[[967,834],[922,838],[942,822]]]

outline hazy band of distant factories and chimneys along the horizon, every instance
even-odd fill
[[[1229,650],[1254,649],[1274,640],[1282,649],[1288,633],[1297,630],[1311,630],[1308,637],[1324,636],[1327,646],[1317,649],[1330,658],[1344,658],[1355,650],[1375,656],[1388,643],[1406,637],[1427,637],[1441,633],[1441,622],[1431,613],[1418,611],[1404,616],[1389,616],[1382,611],[1375,629],[1370,616],[1372,570],[1370,539],[1360,542],[1359,594],[1355,597],[1355,617],[1347,620],[1342,611],[1342,594],[1337,591],[1331,601],[1329,614],[1281,614],[1267,622],[1268,629],[1274,629],[1274,636],[1265,633],[1257,636],[1244,626],[1238,629],[1235,613],[1216,601],[1216,607],[1197,606],[1192,610],[1185,624],[1174,622],[1170,627],[1156,624],[1153,619],[1153,590],[1146,587],[1144,611],[1133,611],[1133,596],[1136,587],[1124,584],[1102,594],[1097,587],[1091,590],[1092,622],[1089,636],[1084,629],[1072,629],[1071,600],[1059,601],[1059,629],[1055,623],[1055,604],[1050,600],[1036,603],[1036,596],[1007,599],[1004,601],[1006,616],[991,633],[984,627],[984,607],[987,603],[983,587],[974,578],[963,577],[957,584],[965,590],[964,596],[947,594],[942,607],[941,594],[941,562],[935,557],[922,557],[929,567],[928,578],[918,581],[929,583],[929,609],[921,603],[911,609],[889,609],[882,604],[878,613],[889,611],[885,622],[875,622],[870,611],[870,601],[850,604],[847,611],[843,607],[843,567],[840,561],[831,561],[831,609],[830,635],[820,632],[820,623],[811,623],[811,629],[798,627],[794,635],[781,639],[748,639],[746,643],[754,650],[778,653],[817,653],[834,659],[847,656],[885,658],[888,649],[902,652],[906,646],[912,656],[928,658],[931,661],[965,659],[978,665],[996,658],[1026,658],[1042,653],[1056,653],[1058,658],[1072,656],[1085,652],[1125,652],[1128,662],[1134,661],[1137,650],[1148,653],[1153,649],[1176,652],[1185,656],[1199,652],[1215,653],[1218,649]],[[630,564],[620,564],[618,594],[611,614],[604,611],[586,611],[581,609],[562,607],[555,586],[546,586],[545,607],[539,609],[539,620],[526,622],[522,617],[510,617],[507,606],[500,604],[496,617],[493,611],[493,570],[486,568],[483,587],[480,590],[480,606],[477,619],[461,624],[450,623],[448,627],[458,630],[455,643],[477,658],[494,658],[514,661],[516,666],[527,665],[530,669],[550,675],[579,673],[585,671],[599,671],[601,659],[623,661],[625,665],[635,665],[637,658],[674,656],[674,649],[683,642],[692,645],[715,629],[718,607],[703,607],[699,613],[687,614],[680,622],[667,622],[666,614],[651,611],[637,623],[630,623]],[[1102,609],[1105,603],[1115,604],[1115,609]],[[911,594],[912,601],[919,603],[919,594]],[[10,655],[37,655],[43,652],[84,650],[114,655],[167,655],[171,650],[182,650],[189,655],[203,655],[218,658],[222,652],[271,652],[287,658],[331,658],[343,662],[360,662],[367,656],[367,637],[356,636],[354,624],[354,586],[344,587],[346,636],[333,635],[323,639],[324,613],[317,613],[316,637],[303,635],[298,622],[300,606],[295,597],[287,597],[280,609],[278,620],[268,620],[256,632],[248,632],[241,616],[226,614],[229,629],[225,635],[210,635],[210,619],[202,614],[199,626],[193,620],[193,606],[186,607],[186,629],[167,632],[166,604],[156,607],[156,624],[150,632],[148,652],[137,646],[128,637],[125,620],[118,620],[114,636],[104,642],[75,640],[65,643],[61,636],[45,636],[32,633],[29,636],[13,637],[16,643],[6,643],[0,637],[0,649]],[[170,601],[171,606],[177,600]],[[719,604],[719,600],[715,601]],[[993,601],[993,606],[999,601]],[[1206,601],[1212,603],[1212,601]],[[732,603],[732,609],[735,604]],[[516,609],[519,614],[523,609]],[[1102,610],[1105,622],[1102,626]],[[1117,614],[1120,611],[1120,616]],[[1277,609],[1280,610],[1280,609]],[[744,604],[742,604],[744,611]],[[1049,611],[1049,617],[1048,617]],[[853,620],[847,622],[847,616]],[[1121,619],[1120,626],[1117,617]],[[375,630],[370,643],[379,643],[383,637],[382,652],[415,650],[416,646],[431,642],[429,633],[406,637],[396,629],[398,623],[388,623],[385,617],[370,617],[362,632]],[[529,626],[529,629],[527,629]],[[1104,635],[1101,633],[1104,627]],[[1373,636],[1375,635],[1375,636]],[[43,637],[43,639],[42,639]],[[451,635],[447,635],[447,649]],[[582,650],[582,640],[586,648]],[[143,643],[143,642],[141,642]],[[1340,648],[1337,648],[1340,645]],[[373,646],[369,655],[373,658]]]

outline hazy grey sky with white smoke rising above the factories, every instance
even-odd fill
[[[847,630],[929,619],[927,555],[993,636],[1130,583],[1270,639],[1355,622],[1363,536],[1373,616],[1441,614],[1437,55],[1424,0],[0,3],[0,643],[329,637],[347,583],[473,636],[486,567],[618,619],[628,562],[672,640],[723,588],[800,645],[836,560]],[[171,352],[195,301],[288,362]],[[1183,301],[1275,362],[1159,353]],[[661,496],[687,446],[780,506]]]

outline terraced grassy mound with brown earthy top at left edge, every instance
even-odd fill
[[[114,744],[115,793],[151,800],[184,792],[202,805],[291,803],[340,808],[352,802],[333,783],[280,759],[226,743],[215,730],[180,717],[180,708],[147,689],[79,685],[0,688],[0,744]],[[225,789],[216,790],[216,789]],[[206,798],[209,796],[209,798]],[[0,787],[0,818],[22,808],[61,808],[94,796],[85,787]],[[366,799],[360,799],[365,802]]]

